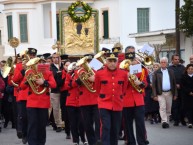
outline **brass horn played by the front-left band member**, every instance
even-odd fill
[[[39,79],[39,78],[44,79],[43,74],[41,72],[37,71],[37,63],[40,60],[41,60],[41,58],[38,58],[38,57],[30,59],[26,63],[26,66],[29,67],[30,69],[26,70],[26,72],[25,72],[25,74],[27,74],[27,72],[29,70],[32,70],[31,73],[26,75],[26,79],[27,79],[27,82],[30,85],[32,91],[37,95],[43,94],[47,89],[46,87],[44,87],[43,90],[39,91],[40,86],[38,84],[36,84],[36,79]]]

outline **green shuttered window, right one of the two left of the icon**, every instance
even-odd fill
[[[28,31],[27,31],[27,14],[19,15],[19,24],[20,24],[20,41],[28,42]]]

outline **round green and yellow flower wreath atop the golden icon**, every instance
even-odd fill
[[[82,15],[82,16],[77,15],[75,10],[78,7],[82,7],[82,9],[84,10],[84,15]],[[72,3],[71,6],[68,7],[68,14],[71,17],[73,22],[82,23],[82,22],[86,22],[91,17],[92,8],[85,2],[76,1],[76,2]]]

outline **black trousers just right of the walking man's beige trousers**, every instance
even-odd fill
[[[60,108],[62,113],[62,121],[65,123],[65,132],[67,135],[70,135],[70,121],[68,117],[67,107],[66,107],[66,98],[68,95],[68,91],[61,92],[60,97]]]

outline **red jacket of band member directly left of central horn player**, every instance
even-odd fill
[[[68,96],[66,98],[66,106],[78,107],[79,105],[79,89],[76,83],[78,76],[76,72],[71,75],[66,75],[65,88],[68,90]]]

